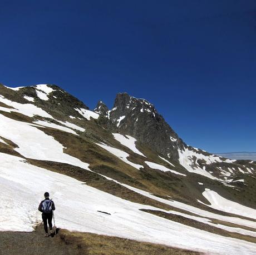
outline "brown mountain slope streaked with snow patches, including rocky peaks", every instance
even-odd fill
[[[145,99],[91,111],[55,85],[0,85],[0,158],[1,231],[34,231],[48,191],[69,231],[255,254],[256,162],[186,145]]]

